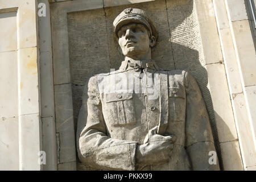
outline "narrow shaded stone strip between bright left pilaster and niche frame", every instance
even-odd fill
[[[46,164],[43,165],[43,170],[52,171],[57,170],[57,141],[53,89],[51,18],[48,0],[38,0],[38,4],[40,5],[39,12],[45,10],[46,13],[45,16],[38,17],[42,150],[46,152]]]

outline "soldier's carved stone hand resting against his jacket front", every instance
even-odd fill
[[[142,145],[137,146],[137,164],[160,164],[168,162],[171,150],[174,147],[175,137],[156,134],[158,126],[154,127],[146,135]]]

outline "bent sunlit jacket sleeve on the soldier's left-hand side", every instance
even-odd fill
[[[135,170],[136,142],[113,139],[106,135],[96,76],[89,79],[88,92],[86,89],[85,86],[79,114],[79,122],[87,118],[79,136],[81,162],[96,169]]]

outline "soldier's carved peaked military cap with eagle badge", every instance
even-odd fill
[[[158,29],[155,26],[155,23],[150,19],[150,15],[142,10],[136,8],[127,8],[123,10],[114,20],[114,34],[118,38],[118,30],[125,24],[129,23],[141,23],[148,28],[150,34],[155,36],[156,40],[158,39]]]

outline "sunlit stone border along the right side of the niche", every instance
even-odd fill
[[[216,121],[216,131],[213,131],[213,133],[217,132],[218,142],[220,142],[220,148],[217,147],[217,150],[220,150],[220,157],[222,158],[221,166],[223,169],[226,169],[232,167],[232,163],[229,160],[226,160],[228,156],[225,152],[222,152],[224,149],[221,142],[228,143],[230,141],[236,141],[237,131],[234,122],[232,103],[229,97],[229,87],[226,81],[225,68],[224,65],[222,65],[223,57],[217,30],[216,15],[214,14],[212,1],[201,2],[195,0],[194,2],[200,25],[201,44],[203,46],[206,64],[205,68],[208,73],[208,87],[212,96],[212,109],[214,110],[214,113],[212,113],[212,111],[209,111],[209,113],[210,118],[214,118]],[[225,24],[222,25],[226,26]],[[240,148],[238,147],[237,150],[230,150],[230,152],[233,152],[230,153],[230,155],[240,158],[236,165],[243,168]]]

